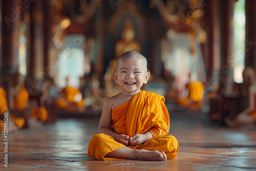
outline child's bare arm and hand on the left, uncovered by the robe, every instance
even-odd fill
[[[111,107],[112,107],[112,99],[106,100],[103,105],[102,114],[99,121],[99,133],[103,133],[105,135],[111,136],[116,141],[128,145],[129,144],[129,136],[123,134],[116,134],[111,130]]]

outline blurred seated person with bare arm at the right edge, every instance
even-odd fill
[[[243,71],[243,83],[247,89],[247,108],[240,112],[235,118],[225,118],[228,127],[251,126],[256,123],[256,77],[255,71],[246,67]]]

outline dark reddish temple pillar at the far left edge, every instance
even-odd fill
[[[1,1],[1,57],[0,74],[9,76],[17,71],[18,45],[19,45],[19,22],[23,6],[19,1]]]

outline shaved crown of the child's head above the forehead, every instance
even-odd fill
[[[119,56],[119,58],[117,59],[116,71],[118,69],[118,63],[120,62],[120,60],[122,60],[123,58],[132,58],[132,57],[137,58],[138,60],[142,60],[144,70],[145,72],[147,72],[146,58],[137,51],[127,51],[123,53],[121,56]]]

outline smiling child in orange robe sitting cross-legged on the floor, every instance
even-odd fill
[[[88,156],[98,160],[157,160],[177,157],[179,144],[169,131],[164,97],[140,90],[147,83],[144,56],[128,51],[117,60],[114,80],[122,92],[107,99],[99,133],[88,146]]]

